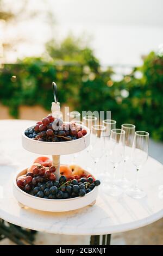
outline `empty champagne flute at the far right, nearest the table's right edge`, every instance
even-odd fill
[[[135,132],[131,160],[134,166],[136,167],[136,182],[134,187],[131,187],[126,191],[128,196],[133,197],[135,199],[140,199],[146,196],[145,191],[139,188],[139,172],[148,159],[148,141],[148,132]]]

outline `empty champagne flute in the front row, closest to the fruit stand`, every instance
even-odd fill
[[[105,126],[103,125],[93,125],[91,127],[91,145],[92,148],[90,150],[90,155],[95,163],[93,173],[95,173],[96,178],[100,179],[100,172],[97,172],[97,163],[99,159],[104,154],[104,132],[105,132]]]

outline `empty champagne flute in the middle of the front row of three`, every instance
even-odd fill
[[[113,165],[113,179],[111,184],[104,188],[104,191],[110,196],[120,196],[123,192],[122,188],[115,184],[115,169],[124,159],[124,143],[125,131],[122,129],[111,130],[108,158]]]

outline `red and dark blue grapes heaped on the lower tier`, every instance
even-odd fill
[[[70,178],[61,175],[57,181],[54,172],[54,166],[47,168],[40,165],[33,169],[33,173],[27,172],[26,175],[18,177],[16,184],[21,190],[35,197],[68,199],[84,197],[101,183],[99,180],[95,180],[92,175],[86,174],[83,176],[74,175]]]

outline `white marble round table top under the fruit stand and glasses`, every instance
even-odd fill
[[[21,207],[12,194],[12,178],[17,170],[30,166],[38,156],[21,147],[22,129],[34,123],[27,120],[0,121],[0,217],[5,221],[48,233],[99,235],[143,227],[163,216],[163,167],[152,157],[140,170],[140,186],[148,195],[141,200],[126,194],[118,198],[110,197],[99,189],[96,204],[80,210],[55,213]],[[61,162],[70,163],[71,157],[62,156]],[[4,164],[7,160],[13,160],[17,166]],[[84,167],[92,164],[86,151],[79,154],[78,163]],[[104,159],[99,162],[99,170],[102,168]],[[111,172],[111,166],[109,169]],[[129,163],[127,175],[133,182],[135,174],[134,166]],[[117,176],[120,175],[122,166],[117,168]]]

